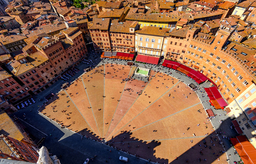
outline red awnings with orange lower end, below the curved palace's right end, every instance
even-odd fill
[[[227,106],[226,101],[222,98],[221,93],[216,86],[204,89],[210,99],[209,102],[216,109],[224,109],[224,106]]]

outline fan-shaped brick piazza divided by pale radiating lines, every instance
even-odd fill
[[[219,152],[224,149],[219,140],[214,141],[216,133],[195,92],[155,71],[146,83],[122,82],[133,71],[134,67],[120,64],[91,70],[60,91],[41,113],[78,134],[103,138],[110,146],[153,162],[184,163],[188,159],[197,163],[198,158],[204,163],[226,162],[226,155]]]

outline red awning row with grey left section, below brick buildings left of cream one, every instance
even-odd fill
[[[124,52],[103,52],[101,58],[133,60],[134,54]]]

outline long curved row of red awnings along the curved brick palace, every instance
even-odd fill
[[[201,82],[205,82],[207,80],[207,78],[201,72],[195,71],[192,68],[189,68],[179,62],[164,60],[162,66],[185,73],[187,76],[194,79],[198,84],[200,84]]]

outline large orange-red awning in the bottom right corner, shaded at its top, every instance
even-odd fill
[[[256,149],[245,136],[230,138],[244,164],[256,163]]]

